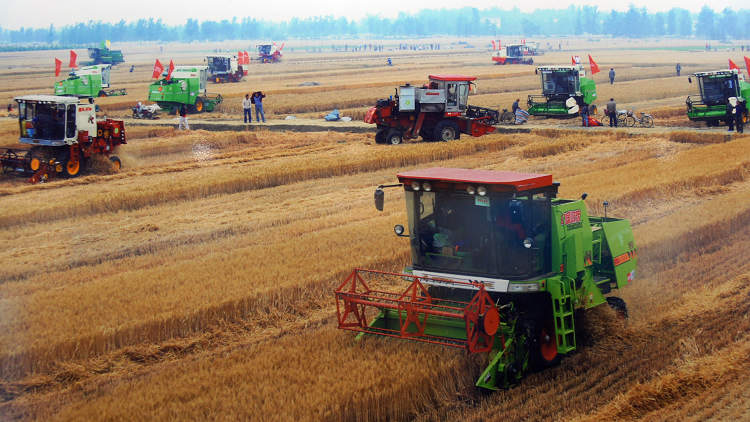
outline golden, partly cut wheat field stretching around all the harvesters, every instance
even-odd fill
[[[209,85],[226,102],[200,118],[239,119],[240,98],[258,89],[269,125],[332,108],[360,117],[430,73],[478,76],[478,105],[509,108],[537,92],[533,68],[443,43],[440,52],[289,52],[251,65],[244,82]],[[0,177],[0,420],[749,419],[750,136],[687,122],[692,87],[673,74],[678,61],[683,75],[721,68],[728,53],[638,47],[571,40],[537,61],[591,52],[618,72],[614,85],[595,75],[600,99],[669,128],[539,119],[529,133],[391,147],[376,145],[374,131],[128,124],[120,172],[38,185]],[[108,117],[145,99],[158,48],[129,48],[137,71],[112,77],[128,96],[98,100]],[[212,48],[166,50],[198,62]],[[54,81],[44,54],[26,54],[0,53],[5,101],[48,93]],[[17,127],[0,118],[0,148],[17,147]],[[388,191],[378,212],[374,187],[426,166],[546,172],[561,197],[588,193],[592,214],[609,201],[638,244],[638,278],[618,293],[628,322],[608,308],[586,312],[576,353],[491,394],[474,387],[486,357],[337,330],[333,289],[352,268],[400,271],[409,261],[392,232],[406,220],[402,195]]]

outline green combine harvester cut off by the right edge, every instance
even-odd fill
[[[706,122],[706,126],[726,124],[729,98],[750,100],[750,83],[742,79],[737,69],[698,72],[688,81],[693,83],[693,78],[698,81],[700,99],[690,95],[685,100],[688,119],[693,122]],[[743,121],[747,120],[746,112]]]

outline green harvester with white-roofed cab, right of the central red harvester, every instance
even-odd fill
[[[542,94],[529,95],[532,116],[571,118],[578,116],[582,105],[596,101],[596,83],[586,77],[581,65],[540,66],[536,73],[541,74]],[[596,114],[596,108],[591,114]]]

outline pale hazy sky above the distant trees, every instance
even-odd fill
[[[517,2],[523,11],[546,8],[566,8],[571,4],[595,5],[600,10],[624,10],[630,4],[644,5],[651,12],[682,7],[698,11],[705,0],[525,0]],[[274,21],[290,17],[344,16],[359,19],[368,14],[394,17],[398,12],[415,12],[426,8],[455,8],[463,6],[479,9],[509,3],[497,0],[0,0],[4,13],[0,13],[0,27],[17,29],[25,27],[47,27],[50,23],[60,27],[76,22],[100,20],[117,22],[120,19],[134,21],[140,18],[161,18],[167,24],[183,24],[187,18],[198,20],[231,19],[234,16],[251,16]],[[747,0],[712,0],[709,5],[716,11],[725,7],[738,10],[748,8]]]

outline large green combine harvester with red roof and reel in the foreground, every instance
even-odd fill
[[[576,312],[635,277],[627,220],[590,217],[583,199],[558,199],[549,174],[431,168],[398,174],[412,265],[403,274],[355,269],[337,288],[338,326],[364,334],[489,353],[476,385],[507,388],[573,353]],[[605,202],[605,211],[606,211]],[[397,292],[377,288],[407,280]],[[398,282],[398,281],[396,281]],[[401,281],[403,282],[403,281]]]

